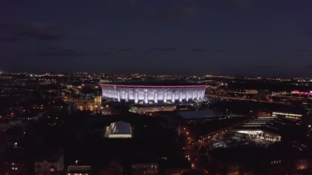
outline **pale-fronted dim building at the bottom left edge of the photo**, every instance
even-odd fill
[[[37,175],[62,174],[64,169],[63,150],[44,150],[34,162]]]

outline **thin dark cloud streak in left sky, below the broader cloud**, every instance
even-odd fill
[[[42,51],[36,53],[38,56],[49,56],[49,57],[81,57],[88,55],[74,49],[63,49],[59,47],[48,47]]]

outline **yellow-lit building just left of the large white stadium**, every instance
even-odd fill
[[[74,94],[68,97],[68,102],[74,102],[80,111],[97,111],[101,110],[102,98],[95,94]]]

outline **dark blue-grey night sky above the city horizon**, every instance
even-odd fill
[[[0,70],[312,77],[310,0],[0,2]]]

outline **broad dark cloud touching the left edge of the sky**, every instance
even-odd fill
[[[22,39],[57,40],[63,36],[55,25],[43,23],[6,23],[0,22],[1,31]]]

